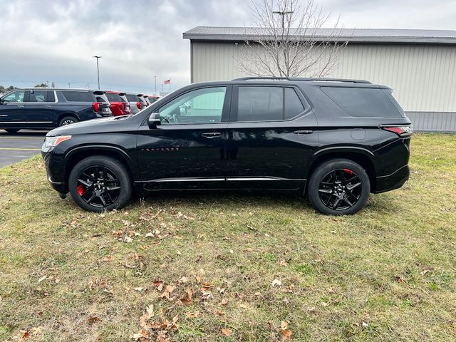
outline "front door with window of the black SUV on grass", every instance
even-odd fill
[[[206,87],[170,98],[156,109],[161,125],[138,131],[145,190],[224,187],[223,145],[231,87]]]

